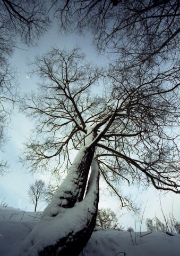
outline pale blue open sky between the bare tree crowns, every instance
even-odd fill
[[[105,55],[98,55],[96,52],[95,47],[92,45],[92,36],[89,33],[84,36],[71,34],[65,37],[58,34],[56,23],[54,23],[52,28],[40,38],[36,47],[28,47],[21,43],[17,46],[18,47],[14,50],[12,56],[12,65],[18,68],[21,95],[37,89],[36,83],[38,82],[38,79],[29,75],[30,69],[27,65],[28,59],[33,60],[36,54],[41,55],[50,50],[51,47],[57,46],[60,49],[72,49],[73,47],[79,46],[82,52],[87,56],[88,61],[100,65],[106,65],[108,63],[108,59]],[[34,206],[29,202],[28,197],[28,188],[30,184],[35,182],[36,179],[42,179],[45,182],[48,182],[50,179],[50,175],[48,174],[42,175],[37,173],[36,175],[32,175],[28,173],[25,167],[19,162],[19,155],[23,149],[23,143],[26,139],[30,138],[31,129],[33,129],[33,122],[25,117],[24,114],[20,113],[18,106],[15,106],[12,113],[11,124],[8,129],[10,139],[7,141],[4,148],[4,158],[7,159],[8,164],[10,165],[8,169],[9,173],[0,177],[0,202],[5,197],[8,206],[27,211],[33,211],[34,209]],[[144,188],[128,187],[127,185],[123,185],[122,190],[125,191],[125,194],[131,194],[137,204],[141,205],[141,217],[145,208],[144,219],[153,218],[156,215],[163,220],[160,209],[161,200],[165,215],[172,212],[173,208],[175,218],[180,221],[179,195],[173,193],[164,195],[154,188],[144,190]],[[44,203],[40,203],[38,205],[38,211],[44,210],[45,206]],[[119,209],[117,198],[115,196],[110,196],[104,185],[102,185],[100,190],[99,208],[101,207],[112,208],[112,210],[117,213],[117,216],[124,214],[119,218],[119,222],[121,222],[123,226],[133,227],[134,214]],[[138,217],[136,218],[138,220]]]

